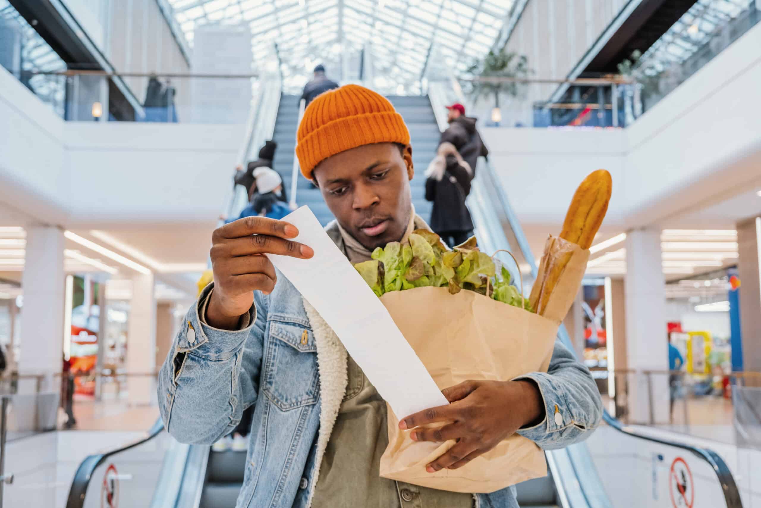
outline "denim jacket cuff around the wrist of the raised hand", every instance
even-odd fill
[[[221,330],[205,322],[206,308],[212,296],[214,283],[201,292],[196,305],[186,315],[186,325],[177,337],[177,350],[193,351],[198,356],[209,359],[226,359],[236,352],[256,321],[256,305],[252,304],[246,314],[240,318],[238,330]]]

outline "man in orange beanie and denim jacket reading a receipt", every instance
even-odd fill
[[[412,209],[412,148],[387,99],[346,85],[304,113],[301,171],[336,216],[326,232],[357,263],[389,241],[426,228]],[[514,487],[461,494],[380,478],[386,404],[336,335],[263,254],[309,258],[287,222],[248,217],[212,237],[214,283],[199,296],[161,369],[167,430],[184,443],[214,443],[253,410],[237,508],[517,508]],[[411,390],[415,387],[411,386]],[[513,433],[546,448],[588,436],[601,415],[594,379],[561,343],[548,372],[444,390],[451,404],[404,417],[416,441],[457,440],[428,472],[460,468]],[[560,432],[562,430],[562,432]]]

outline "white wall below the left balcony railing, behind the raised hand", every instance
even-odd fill
[[[202,222],[232,188],[242,125],[71,123],[65,132],[71,222],[97,227]]]

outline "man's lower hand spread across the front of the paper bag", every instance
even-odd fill
[[[464,381],[441,393],[451,404],[431,407],[399,422],[400,429],[448,422],[444,427],[413,430],[410,434],[414,441],[457,440],[456,445],[426,466],[429,473],[460,468],[516,430],[544,417],[539,388],[526,380]]]

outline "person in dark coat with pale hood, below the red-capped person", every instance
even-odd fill
[[[463,243],[473,235],[473,220],[465,206],[473,169],[452,143],[443,142],[425,177],[425,199],[433,201],[431,229],[450,247]]]

